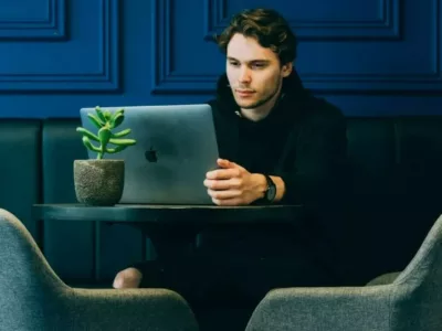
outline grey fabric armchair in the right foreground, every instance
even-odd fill
[[[380,276],[365,287],[270,291],[246,327],[263,330],[442,330],[442,216],[401,273]]]

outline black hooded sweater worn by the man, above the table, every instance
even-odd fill
[[[211,100],[220,157],[250,172],[280,175],[283,203],[316,203],[346,158],[346,121],[340,110],[305,89],[296,75],[284,79],[283,97],[259,122],[239,117],[225,75]],[[259,161],[257,161],[259,160]]]

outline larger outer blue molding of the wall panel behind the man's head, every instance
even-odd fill
[[[176,0],[152,0],[152,13],[155,19],[152,20],[152,89],[155,94],[212,94],[215,88],[218,74],[180,74],[179,70],[172,67],[172,54],[177,52],[173,50],[171,42],[170,26],[172,24],[172,10],[173,2]],[[201,0],[204,1],[207,9],[211,6],[212,9],[208,10],[207,13],[210,15],[217,15],[219,19],[225,15],[225,0]],[[442,92],[442,24],[439,22],[439,18],[442,17],[441,1],[431,0],[434,10],[432,11],[431,32],[434,36],[431,44],[431,63],[430,70],[422,73],[306,73],[301,74],[302,79],[306,87],[317,92],[329,92],[329,93],[367,93],[367,92]],[[397,31],[390,36],[382,38],[377,36],[377,41],[383,40],[385,42],[403,43],[407,42],[407,36],[402,36],[399,24],[399,0],[385,0],[385,12],[389,13],[386,15],[387,19],[382,19],[382,22],[378,22],[386,31]],[[214,9],[215,7],[217,9]],[[392,14],[394,13],[394,14]],[[389,17],[398,17],[398,20],[389,20]],[[212,19],[206,18],[206,23],[202,25],[207,30],[218,29],[215,25],[211,25]],[[214,20],[215,21],[215,20]],[[394,23],[396,22],[396,23]],[[412,29],[410,22],[410,28]],[[383,24],[383,25],[382,25]],[[403,22],[406,24],[406,22]],[[390,28],[388,28],[390,26]],[[344,28],[343,31],[345,31]],[[375,29],[375,28],[373,28]],[[367,31],[367,30],[366,30]],[[206,33],[209,35],[210,33]],[[388,35],[388,34],[387,34]],[[348,34],[347,36],[350,36]],[[354,35],[355,36],[355,35]],[[371,35],[373,38],[375,35]],[[390,41],[390,39],[392,40]],[[343,41],[347,42],[347,41]],[[348,41],[350,42],[350,41]],[[203,41],[201,41],[203,43]],[[410,49],[413,49],[413,44]],[[417,45],[418,46],[418,45]],[[408,55],[412,56],[412,55]],[[203,58],[201,58],[202,61]],[[208,68],[210,67],[207,63]]]

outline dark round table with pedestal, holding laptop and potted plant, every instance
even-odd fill
[[[152,242],[158,258],[176,258],[188,252],[197,234],[215,224],[296,224],[302,220],[301,205],[149,205],[116,204],[88,206],[84,204],[34,204],[35,220],[69,222],[98,221],[127,223],[140,228]]]

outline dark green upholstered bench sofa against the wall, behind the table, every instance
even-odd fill
[[[126,265],[152,258],[136,228],[32,220],[33,203],[75,202],[72,163],[86,158],[78,119],[0,119],[0,207],[28,227],[70,284],[110,286]],[[364,280],[402,269],[442,211],[442,117],[349,118],[355,238]],[[399,231],[398,231],[399,229]],[[349,247],[349,249],[352,249]]]

